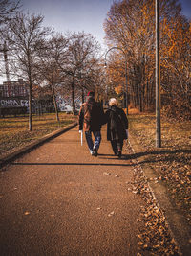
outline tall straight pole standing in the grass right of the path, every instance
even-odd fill
[[[156,147],[161,147],[160,70],[159,70],[159,0],[156,0]]]

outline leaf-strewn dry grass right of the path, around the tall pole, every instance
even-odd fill
[[[156,118],[150,114],[129,115],[130,132],[148,157],[145,166],[165,182],[174,205],[191,223],[191,121],[161,119],[160,149],[156,148]]]

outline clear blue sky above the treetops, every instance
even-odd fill
[[[180,0],[182,12],[191,18],[191,0]],[[44,25],[65,33],[84,31],[103,45],[103,22],[113,0],[21,0],[24,12],[45,16]]]

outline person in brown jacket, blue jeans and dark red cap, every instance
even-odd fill
[[[78,120],[79,131],[85,131],[85,137],[90,153],[94,156],[97,156],[97,151],[101,142],[101,126],[103,118],[103,108],[96,102],[95,93],[90,91],[87,95],[86,102],[80,107]],[[95,142],[93,142],[92,133],[95,137]]]

